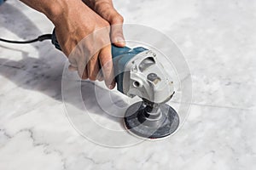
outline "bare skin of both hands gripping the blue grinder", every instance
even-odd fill
[[[61,50],[67,55],[69,69],[78,71],[82,79],[104,80],[107,87],[115,86],[111,45],[125,46],[122,31],[123,17],[113,8],[112,0],[20,0],[26,5],[45,14],[55,25],[55,33]],[[114,26],[113,26],[114,25]],[[109,27],[113,26],[113,27]],[[70,55],[77,44],[95,31],[101,36],[93,36],[93,42],[102,45],[91,56]],[[102,35],[103,34],[103,35]],[[107,45],[106,45],[107,44]],[[87,51],[93,51],[87,42]],[[98,74],[102,67],[102,74]]]

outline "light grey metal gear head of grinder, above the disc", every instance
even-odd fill
[[[123,74],[123,94],[138,96],[152,103],[166,103],[174,94],[169,77],[156,54],[145,50],[130,59]]]

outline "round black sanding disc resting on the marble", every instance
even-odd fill
[[[160,139],[171,135],[179,125],[177,112],[170,105],[163,104],[159,107],[161,116],[157,118],[158,120],[150,119],[150,122],[152,120],[157,122],[151,126],[152,123],[147,123],[148,120],[144,117],[146,105],[143,105],[143,101],[131,105],[125,112],[125,127],[144,139]]]

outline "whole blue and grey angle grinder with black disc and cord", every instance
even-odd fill
[[[31,43],[47,39],[61,50],[55,30],[52,34],[29,41],[3,38],[0,41]],[[179,125],[179,117],[170,105],[166,105],[174,94],[173,82],[154,51],[143,47],[119,48],[112,45],[112,56],[119,92],[131,98],[138,96],[142,99],[125,111],[125,128],[143,139],[162,139],[174,133]]]

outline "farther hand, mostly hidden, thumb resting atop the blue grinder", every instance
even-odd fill
[[[108,23],[112,26],[111,42],[118,47],[124,47],[125,38],[122,29],[124,18],[113,8],[112,0],[83,0],[83,2],[101,15],[103,19],[108,20]]]

